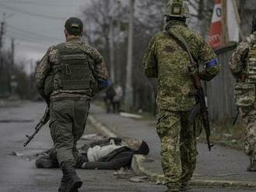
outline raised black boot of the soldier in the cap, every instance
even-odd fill
[[[64,176],[64,181],[67,178],[67,185],[61,185],[61,187],[66,187],[64,192],[77,192],[78,188],[81,187],[82,182],[81,179],[78,177],[78,174],[74,170],[74,166],[71,163],[63,163],[62,172]]]

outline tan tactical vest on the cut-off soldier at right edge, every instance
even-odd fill
[[[250,47],[247,57],[247,82],[256,84],[256,45]]]

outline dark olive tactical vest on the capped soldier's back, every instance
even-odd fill
[[[79,47],[58,50],[59,63],[54,63],[54,91],[92,92],[92,70],[88,55]]]

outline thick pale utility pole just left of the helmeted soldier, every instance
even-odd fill
[[[133,105],[133,23],[134,23],[134,4],[135,0],[130,0],[130,22],[128,36],[128,53],[126,66],[126,111],[130,111]]]

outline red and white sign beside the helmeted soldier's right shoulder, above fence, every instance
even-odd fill
[[[221,0],[215,0],[213,9],[212,24],[209,29],[209,44],[217,49],[222,46],[223,26],[222,26],[222,3]]]

